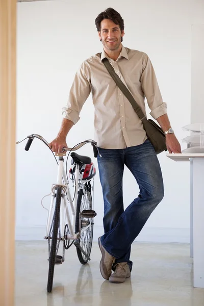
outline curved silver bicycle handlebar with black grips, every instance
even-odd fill
[[[38,139],[42,140],[47,146],[49,146],[49,143],[42,136],[40,136],[38,134],[29,135],[26,138],[24,138],[23,140],[17,141],[16,144],[24,141],[27,138],[29,138],[29,139],[28,139],[27,144],[25,145],[25,151],[28,151],[30,149],[30,146],[31,146],[34,138],[38,138]],[[72,151],[76,151],[79,148],[81,148],[83,145],[85,145],[86,143],[91,143],[91,145],[93,146],[93,155],[94,155],[94,157],[97,157],[97,155],[99,154],[97,143],[94,140],[92,140],[92,139],[87,139],[87,140],[81,142],[80,144],[78,144],[77,146],[74,146],[73,148],[69,148],[69,147],[65,148],[64,147],[62,149],[62,151],[71,151],[71,150]],[[100,156],[100,154],[99,154],[99,156]]]

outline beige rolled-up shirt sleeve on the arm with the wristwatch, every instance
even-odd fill
[[[151,110],[150,115],[157,119],[167,113],[167,105],[162,99],[159,89],[155,70],[150,59],[144,53],[143,55],[143,70],[140,78],[141,88],[146,96],[148,106]]]

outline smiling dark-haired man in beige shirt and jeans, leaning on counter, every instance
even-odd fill
[[[163,180],[142,121],[101,60],[109,59],[144,114],[146,96],[151,116],[166,132],[168,151],[180,153],[181,147],[171,129],[166,103],[148,56],[121,44],[124,23],[120,14],[109,8],[97,16],[95,24],[103,51],[83,62],[75,75],[67,107],[63,108],[61,129],[50,147],[53,151],[61,151],[67,146],[67,133],[78,122],[83,104],[92,92],[95,140],[102,156],[97,160],[104,196],[105,234],[98,238],[102,254],[100,272],[110,282],[122,283],[131,275],[131,244],[163,198]],[[139,196],[125,211],[122,198],[124,165],[133,173],[140,188]]]

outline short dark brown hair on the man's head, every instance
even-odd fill
[[[95,25],[98,32],[100,32],[100,23],[104,19],[112,20],[115,24],[119,25],[121,31],[124,30],[124,20],[121,15],[114,9],[108,8],[104,12],[101,12],[95,19]]]

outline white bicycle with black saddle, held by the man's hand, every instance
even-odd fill
[[[25,145],[26,151],[30,149],[34,138],[40,139],[47,146],[49,145],[48,142],[38,134],[27,136],[23,140],[16,142],[16,144],[21,143],[27,138],[28,142]],[[44,237],[48,242],[49,268],[47,292],[51,292],[53,289],[55,265],[64,262],[65,249],[69,249],[71,245],[74,244],[77,247],[77,254],[81,264],[85,265],[90,260],[93,240],[93,218],[96,216],[96,212],[93,210],[94,176],[96,170],[90,157],[71,152],[87,143],[92,144],[94,157],[96,157],[97,154],[99,154],[97,143],[91,139],[85,140],[75,145],[73,148],[63,148],[62,153],[56,152],[55,155],[49,148],[55,156],[55,159],[56,156],[59,157],[59,161],[56,159],[58,164],[57,183],[52,185],[49,194],[51,195],[51,202],[49,210],[47,209],[48,217]],[[72,167],[69,170],[69,176],[74,187],[73,199],[69,190],[67,162],[66,173],[64,169],[64,156],[66,155],[66,151],[69,151],[72,158]],[[43,208],[45,207],[43,206]],[[70,211],[72,220],[70,218]],[[71,243],[70,240],[72,240]],[[62,242],[62,255],[58,254],[60,242]]]

